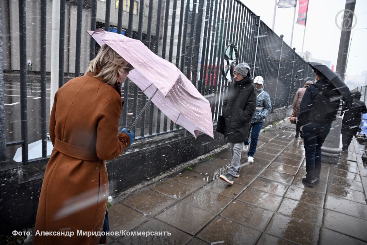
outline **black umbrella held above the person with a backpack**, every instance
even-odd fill
[[[343,79],[337,73],[331,71],[330,68],[321,63],[308,62],[308,64],[315,72],[318,71],[323,74],[330,81],[330,83],[335,86],[335,88],[343,97],[344,101],[349,101],[351,96],[350,90],[348,86],[346,86],[346,84],[343,82]]]

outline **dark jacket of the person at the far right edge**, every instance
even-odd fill
[[[357,93],[357,96],[353,99],[352,107],[349,108],[346,104],[342,107],[342,112],[344,112],[342,134],[356,135],[361,123],[361,113],[367,113],[366,104],[359,100],[361,93]]]

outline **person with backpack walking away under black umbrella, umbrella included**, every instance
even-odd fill
[[[321,147],[327,137],[331,123],[336,119],[340,99],[348,100],[350,91],[341,78],[327,66],[309,63],[316,72],[316,83],[310,85],[302,98],[298,120],[303,126],[306,155],[306,177],[302,179],[308,187],[320,180]]]

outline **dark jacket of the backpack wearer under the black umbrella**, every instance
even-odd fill
[[[328,94],[329,97],[340,97],[340,93],[336,90],[335,86],[331,84],[328,80],[320,79],[316,82],[317,86],[322,87],[321,91]],[[315,96],[319,93],[319,89],[315,85],[309,86],[302,98],[301,104],[299,106],[299,116],[298,120],[301,126],[306,125],[314,121],[313,111],[316,109]],[[325,123],[331,123],[336,119],[337,111],[332,118],[329,118]]]

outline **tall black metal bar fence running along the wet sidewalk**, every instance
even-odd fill
[[[3,7],[9,5],[10,0],[4,1]],[[98,0],[98,4],[101,3]],[[222,101],[225,96],[229,81],[223,76],[223,70],[231,68],[239,62],[247,62],[251,67],[252,75],[263,76],[265,80],[265,90],[270,94],[273,110],[288,107],[299,87],[302,87],[306,80],[313,80],[313,72],[309,65],[290,48],[281,37],[277,36],[267,25],[260,20],[243,3],[237,0],[149,0],[145,4],[144,0],[138,1],[139,8],[134,5],[136,0],[127,0],[130,8],[123,6],[124,1],[103,0],[105,2],[104,29],[110,30],[111,7],[118,8],[117,33],[122,30],[122,15],[128,14],[128,27],[125,35],[142,40],[154,53],[173,62],[197,89],[210,102],[212,108],[213,122],[217,121],[221,113]],[[54,3],[57,1],[53,1]],[[154,2],[154,8],[153,8]],[[47,28],[46,22],[47,4],[50,1],[41,0],[38,3],[40,12],[39,27],[32,29],[26,23],[25,0],[18,0],[19,11],[19,73],[20,73],[20,121],[21,133],[18,138],[9,140],[6,136],[6,147],[22,146],[22,159],[24,163],[34,163],[39,159],[28,159],[28,143],[42,140],[42,157],[46,158],[46,133],[47,120],[49,114],[46,110],[46,59],[50,55],[46,53]],[[75,50],[70,50],[70,37],[65,36],[65,6],[71,4],[76,6],[76,40]],[[91,23],[90,29],[95,29],[101,22],[97,21],[97,0],[61,0],[60,1],[60,38],[59,38],[59,87],[64,83],[65,60],[72,60],[70,64],[75,65],[74,76],[80,76],[81,53],[90,53],[92,59],[95,51],[95,42],[91,40],[90,46],[84,47],[82,43],[82,22]],[[134,7],[135,6],[135,7]],[[123,8],[124,7],[124,8]],[[87,9],[87,10],[86,10]],[[156,11],[156,13],[153,12]],[[82,14],[87,11],[87,14]],[[1,11],[0,11],[1,12]],[[137,15],[137,16],[134,16]],[[85,17],[89,19],[85,19]],[[153,17],[155,17],[153,19]],[[69,14],[69,18],[70,14]],[[83,20],[82,20],[83,18]],[[70,20],[70,19],[69,19]],[[133,25],[138,22],[137,32],[133,31]],[[143,26],[143,23],[146,26]],[[155,26],[153,25],[155,24]],[[1,27],[1,26],[0,26]],[[70,24],[69,24],[70,29]],[[143,33],[146,30],[146,33]],[[154,32],[155,30],[155,32]],[[0,28],[0,34],[5,34],[7,30]],[[10,30],[9,30],[10,32]],[[27,105],[27,42],[28,33],[39,32],[40,43],[35,49],[40,59],[40,106],[39,109],[32,109],[32,114],[40,115],[40,123],[35,126],[37,129],[29,128],[28,120],[30,108]],[[153,33],[154,32],[154,33]],[[154,35],[153,35],[154,34]],[[9,33],[10,35],[10,33]],[[4,37],[6,38],[6,37]],[[65,47],[65,42],[68,47]],[[74,48],[74,47],[73,47]],[[1,45],[0,45],[1,49]],[[13,53],[15,49],[13,49]],[[1,53],[0,53],[1,54]],[[67,57],[65,57],[65,54]],[[2,57],[0,57],[2,58]],[[85,57],[84,57],[85,58]],[[70,64],[67,63],[69,72]],[[1,68],[1,67],[0,67]],[[2,70],[3,68],[1,68]],[[1,75],[1,74],[0,74]],[[229,78],[229,76],[228,76]],[[139,88],[131,83],[125,82],[122,91],[125,101],[121,114],[121,127],[131,125],[139,108],[146,103],[147,98]],[[29,91],[28,91],[29,92]],[[1,96],[1,93],[0,93]],[[1,100],[0,100],[1,101]],[[0,107],[1,109],[1,107]],[[5,109],[6,110],[6,109]],[[0,117],[5,121],[4,111],[0,112]],[[165,115],[161,114],[153,104],[143,113],[134,127],[136,138],[152,137],[170,131],[181,130],[178,125],[174,125]],[[39,132],[36,137],[28,138],[29,131]],[[1,135],[0,135],[1,136]],[[0,139],[1,142],[5,140]],[[1,149],[1,148],[0,148]],[[4,152],[1,152],[4,160]]]

